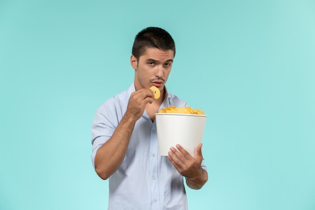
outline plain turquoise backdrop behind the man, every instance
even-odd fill
[[[315,209],[315,2],[0,1],[0,209],[106,209],[96,109],[129,87],[134,36],[177,45],[169,90],[208,115],[193,209]]]

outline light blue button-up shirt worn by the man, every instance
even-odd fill
[[[128,90],[102,104],[92,125],[92,163],[97,150],[112,136],[124,116],[129,97]],[[161,108],[187,106],[187,103],[166,90]],[[202,168],[206,170],[204,162]],[[130,138],[126,156],[119,169],[109,177],[109,210],[149,210],[188,208],[183,176],[166,156],[159,155],[156,124],[144,111],[137,120]]]

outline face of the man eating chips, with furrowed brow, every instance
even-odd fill
[[[155,86],[162,92],[171,72],[173,59],[173,50],[164,51],[157,48],[146,48],[145,53],[138,60],[131,55],[130,62],[135,69],[136,90]]]

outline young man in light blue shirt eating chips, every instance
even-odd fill
[[[180,145],[159,156],[155,115],[169,106],[187,103],[165,87],[175,56],[171,35],[156,27],[140,31],[134,40],[131,66],[134,82],[128,90],[101,105],[92,125],[92,163],[102,179],[109,178],[108,209],[187,209],[183,182],[200,189],[208,179],[201,144],[192,157]],[[161,91],[153,98],[151,86]]]

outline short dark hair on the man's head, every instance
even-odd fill
[[[135,36],[132,46],[132,55],[139,60],[139,57],[145,53],[147,47],[173,50],[175,56],[175,42],[169,32],[162,28],[147,27],[141,30]]]

